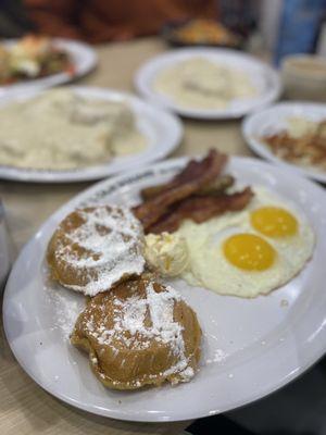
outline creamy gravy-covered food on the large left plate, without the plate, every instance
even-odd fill
[[[0,164],[72,170],[103,164],[147,147],[124,101],[57,88],[0,109]]]

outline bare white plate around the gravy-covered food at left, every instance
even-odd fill
[[[161,160],[170,154],[183,137],[183,125],[179,120],[148,102],[121,91],[93,88],[71,87],[77,95],[85,98],[103,99],[108,101],[126,101],[130,104],[137,119],[138,129],[147,137],[148,146],[141,152],[111,159],[108,163],[67,171],[28,170],[0,165],[0,178],[20,182],[67,183],[99,179],[131,167]],[[46,90],[45,90],[46,91]],[[21,92],[20,97],[11,97],[0,103],[3,107],[13,101],[23,101],[39,95],[41,91]]]

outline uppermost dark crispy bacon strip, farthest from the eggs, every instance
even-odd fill
[[[225,154],[211,150],[203,160],[190,161],[160,194],[135,207],[134,213],[142,223],[145,231],[153,225],[172,204],[190,197],[212,183],[221,174],[226,162]]]

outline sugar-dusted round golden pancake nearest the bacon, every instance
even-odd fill
[[[142,229],[127,208],[77,209],[54,232],[48,246],[51,275],[64,287],[95,296],[145,268]]]

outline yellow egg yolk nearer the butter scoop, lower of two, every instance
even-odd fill
[[[274,248],[254,234],[236,234],[224,241],[224,254],[235,266],[246,271],[265,271],[274,263]]]

